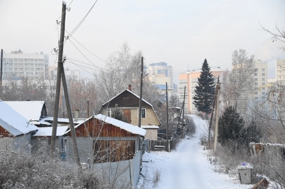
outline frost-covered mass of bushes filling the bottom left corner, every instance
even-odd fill
[[[46,159],[44,149],[0,151],[0,188],[110,188],[95,172],[77,168],[58,159]]]

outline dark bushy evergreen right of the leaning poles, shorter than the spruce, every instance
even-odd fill
[[[228,141],[235,143],[235,146],[241,145],[243,136],[243,117],[240,116],[233,106],[225,108],[224,114],[219,118],[218,141],[222,145]]]

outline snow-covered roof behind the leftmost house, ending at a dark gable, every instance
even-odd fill
[[[45,101],[5,101],[14,110],[23,117],[32,121],[39,121],[42,112],[42,106]]]

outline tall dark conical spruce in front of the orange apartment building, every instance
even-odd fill
[[[198,78],[198,85],[196,85],[194,90],[196,94],[193,97],[195,107],[199,112],[205,113],[206,117],[211,112],[215,95],[215,79],[211,75],[210,70],[207,59],[205,59],[202,65],[202,72]]]

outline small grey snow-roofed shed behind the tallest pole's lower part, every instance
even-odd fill
[[[65,151],[65,137],[62,136],[67,131],[68,126],[57,127],[56,129],[56,144],[55,148],[59,152]],[[41,147],[46,148],[47,152],[50,151],[51,135],[53,127],[39,127],[37,133],[32,135],[31,144],[32,150],[36,151]]]

